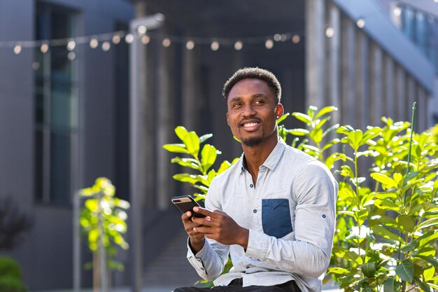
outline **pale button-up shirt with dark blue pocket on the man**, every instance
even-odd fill
[[[188,248],[188,260],[203,279],[215,279],[216,286],[236,278],[243,279],[243,286],[293,279],[303,292],[321,291],[332,252],[336,196],[337,182],[329,169],[279,138],[260,166],[255,186],[242,155],[213,179],[206,197],[207,209],[225,211],[248,228],[246,251],[206,239],[196,255]],[[233,268],[218,277],[229,253]]]

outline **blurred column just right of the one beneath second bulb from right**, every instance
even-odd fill
[[[370,124],[380,125],[381,117],[383,116],[383,70],[382,62],[383,55],[381,48],[376,44],[372,43],[370,50],[370,103],[369,112],[371,113]]]

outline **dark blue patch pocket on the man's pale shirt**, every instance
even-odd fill
[[[262,226],[265,234],[276,238],[284,237],[292,232],[289,200],[262,200]]]

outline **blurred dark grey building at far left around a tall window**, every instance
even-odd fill
[[[0,1],[0,196],[34,222],[10,252],[32,290],[71,287],[73,194],[98,176],[128,192],[127,45],[38,40],[125,30],[133,17],[122,0]]]

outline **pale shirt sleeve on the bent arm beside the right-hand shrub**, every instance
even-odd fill
[[[319,277],[330,263],[337,182],[320,162],[310,162],[295,178],[293,193],[295,240],[250,230],[246,256],[287,272]]]

